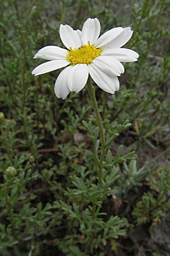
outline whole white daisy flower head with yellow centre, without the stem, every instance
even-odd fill
[[[101,89],[113,94],[120,86],[117,76],[124,73],[121,62],[137,61],[139,57],[137,52],[121,48],[132,34],[130,27],[116,27],[99,37],[97,18],[88,18],[82,31],[61,24],[59,35],[67,49],[58,46],[40,49],[34,59],[49,61],[33,69],[32,74],[37,76],[69,66],[59,74],[54,86],[56,96],[63,100],[69,92],[82,90],[89,74]]]

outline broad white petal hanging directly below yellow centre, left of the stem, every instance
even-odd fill
[[[79,92],[86,85],[88,79],[88,68],[86,64],[71,66],[67,77],[67,85],[71,92]]]

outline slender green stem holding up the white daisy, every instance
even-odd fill
[[[103,123],[101,121],[101,116],[100,116],[99,108],[98,108],[97,101],[96,101],[95,88],[94,88],[94,86],[92,86],[90,77],[88,78],[88,81],[87,81],[87,88],[88,88],[88,92],[91,97],[92,106],[95,110],[97,124],[98,124],[99,130],[100,130],[101,155],[100,155],[100,162],[99,162],[99,183],[101,183],[101,171],[102,171],[103,160],[104,160],[104,155],[105,155],[104,128],[103,128]]]

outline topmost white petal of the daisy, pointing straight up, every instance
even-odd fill
[[[88,18],[83,24],[82,28],[82,42],[83,44],[94,44],[100,35],[100,22],[99,19]]]

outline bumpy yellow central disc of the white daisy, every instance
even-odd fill
[[[101,49],[95,48],[88,41],[88,45],[84,44],[84,46],[79,47],[78,49],[72,49],[70,47],[69,54],[67,55],[67,60],[71,65],[76,64],[91,64],[93,60],[100,56]]]

